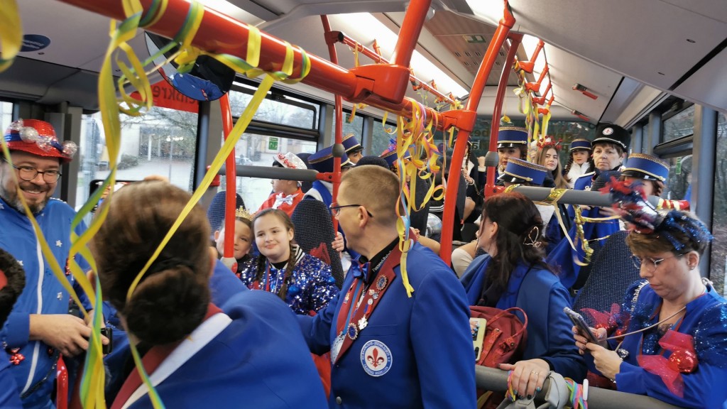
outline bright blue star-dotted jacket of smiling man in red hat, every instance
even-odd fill
[[[36,215],[57,263],[64,270],[71,249],[71,221],[75,215],[76,212],[68,204],[57,199],[50,199],[44,210]],[[20,394],[35,389],[23,400],[25,408],[45,408],[50,404],[49,396],[55,379],[55,370],[52,370],[55,357],[49,354],[47,344],[28,339],[30,315],[67,314],[70,296],[41,255],[41,247],[31,222],[25,214],[19,213],[2,199],[0,226],[0,247],[12,254],[25,269],[25,290],[0,330],[0,342],[4,348],[20,348],[20,354],[25,357],[20,365],[10,368]],[[76,234],[80,235],[84,230],[85,226],[78,226]],[[72,276],[68,276],[68,279],[75,284]],[[44,378],[46,380],[41,382]]]

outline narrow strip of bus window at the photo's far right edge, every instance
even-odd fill
[[[717,163],[715,163],[715,200],[712,207],[712,260],[710,279],[715,289],[725,294],[727,269],[727,118],[723,112],[717,116]]]

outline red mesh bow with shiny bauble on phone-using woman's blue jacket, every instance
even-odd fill
[[[684,380],[681,374],[692,373],[699,365],[694,350],[694,338],[689,334],[668,330],[659,340],[659,345],[672,352],[669,359],[662,355],[639,355],[638,365],[662,378],[672,394],[684,397]]]

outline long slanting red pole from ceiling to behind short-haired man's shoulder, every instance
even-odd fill
[[[489,47],[482,58],[482,63],[475,76],[475,83],[472,85],[470,90],[470,98],[467,99],[467,105],[465,111],[477,112],[477,106],[482,98],[482,92],[485,89],[487,77],[490,75],[492,65],[499,50],[502,48],[502,44],[505,44],[507,34],[510,33],[510,28],[515,25],[515,17],[510,13],[510,7],[505,0],[505,15],[497,25],[492,41],[490,41]],[[471,124],[460,130],[457,133],[457,141],[454,143],[454,153],[452,154],[451,166],[461,166],[462,160],[465,159],[465,150],[467,149],[467,140],[470,138],[470,132],[474,126],[476,117],[471,116]],[[442,260],[449,264],[451,261],[451,250],[452,250],[452,232],[454,231],[454,209],[457,203],[457,191],[459,190],[459,178],[462,176],[462,172],[454,171],[451,168],[449,172],[449,179],[447,180],[447,191],[444,194],[444,215],[442,217],[442,234],[441,234],[441,247],[439,255]]]

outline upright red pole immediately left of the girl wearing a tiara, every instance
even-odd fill
[[[232,132],[232,111],[230,110],[230,98],[227,94],[220,98],[220,108],[222,109],[222,130],[225,132],[225,140]],[[223,256],[225,258],[233,258],[235,252],[235,207],[237,205],[237,189],[235,182],[237,172],[235,169],[235,150],[225,159],[225,248]],[[215,226],[212,226],[215,229]]]

